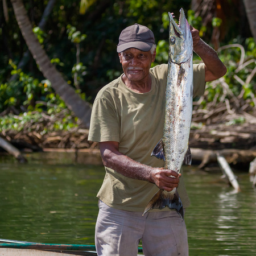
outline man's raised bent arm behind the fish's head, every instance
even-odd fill
[[[226,73],[226,67],[218,58],[217,52],[202,39],[199,31],[191,27],[194,52],[201,57],[205,64],[205,82],[216,80]]]

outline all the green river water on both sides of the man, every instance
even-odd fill
[[[104,178],[97,158],[61,152],[0,156],[0,238],[42,243],[94,243],[96,193]],[[247,170],[235,171],[240,193],[221,171],[184,167],[191,207],[189,255],[256,255],[256,191]]]

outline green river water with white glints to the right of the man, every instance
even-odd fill
[[[221,172],[204,174],[187,170],[192,202],[186,213],[189,255],[256,254],[253,242],[256,241],[256,195],[249,176],[237,175],[242,188],[240,193],[234,193],[233,188],[220,179]]]

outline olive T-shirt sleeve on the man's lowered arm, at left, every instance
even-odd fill
[[[92,108],[88,141],[119,142],[120,127],[113,104],[105,98],[96,98]]]

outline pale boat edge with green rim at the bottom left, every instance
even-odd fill
[[[142,253],[142,248],[138,248]],[[0,256],[97,256],[94,245],[65,245],[0,239]]]

